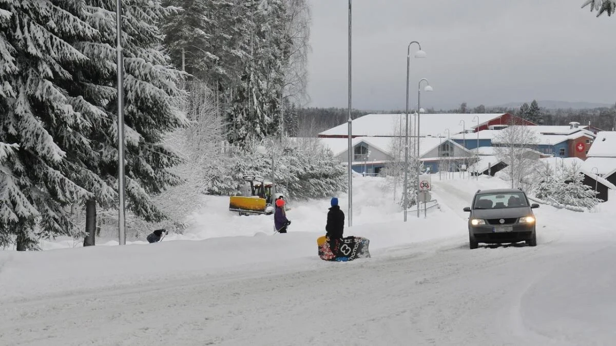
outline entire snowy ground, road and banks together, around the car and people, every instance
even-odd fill
[[[614,199],[593,213],[536,209],[537,247],[471,251],[462,208],[506,183],[432,179],[441,208],[407,223],[380,179],[354,179],[345,234],[370,238],[371,259],[318,259],[326,199],[291,205],[286,235],[209,197],[161,243],[0,251],[0,344],[614,343]]]

